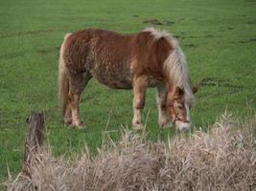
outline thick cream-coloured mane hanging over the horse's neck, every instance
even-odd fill
[[[195,97],[191,88],[186,58],[175,37],[169,32],[160,32],[154,28],[144,31],[151,32],[155,41],[164,37],[171,44],[173,49],[164,62],[164,71],[174,86],[184,88],[186,101],[193,103]]]

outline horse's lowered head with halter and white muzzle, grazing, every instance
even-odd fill
[[[198,92],[198,88],[193,88],[193,93]],[[191,127],[190,108],[192,100],[187,98],[183,88],[175,87],[175,90],[168,92],[167,108],[168,113],[180,131],[189,130]]]

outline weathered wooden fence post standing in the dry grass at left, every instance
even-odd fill
[[[31,177],[31,161],[35,153],[40,151],[44,140],[45,113],[32,112],[27,119],[28,135],[25,143],[25,154],[23,163],[23,174]]]

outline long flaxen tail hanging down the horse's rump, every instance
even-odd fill
[[[62,110],[62,114],[66,111],[67,98],[69,92],[69,81],[66,74],[65,61],[63,59],[63,53],[65,49],[65,42],[70,33],[67,33],[64,37],[64,41],[60,48],[59,61],[58,61],[58,105]]]

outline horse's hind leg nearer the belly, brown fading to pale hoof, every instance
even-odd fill
[[[80,99],[81,92],[91,78],[89,73],[76,74],[70,77],[70,89],[68,94],[68,106],[65,117],[71,117],[71,123],[69,126],[81,128],[84,124],[81,121],[80,115]]]

